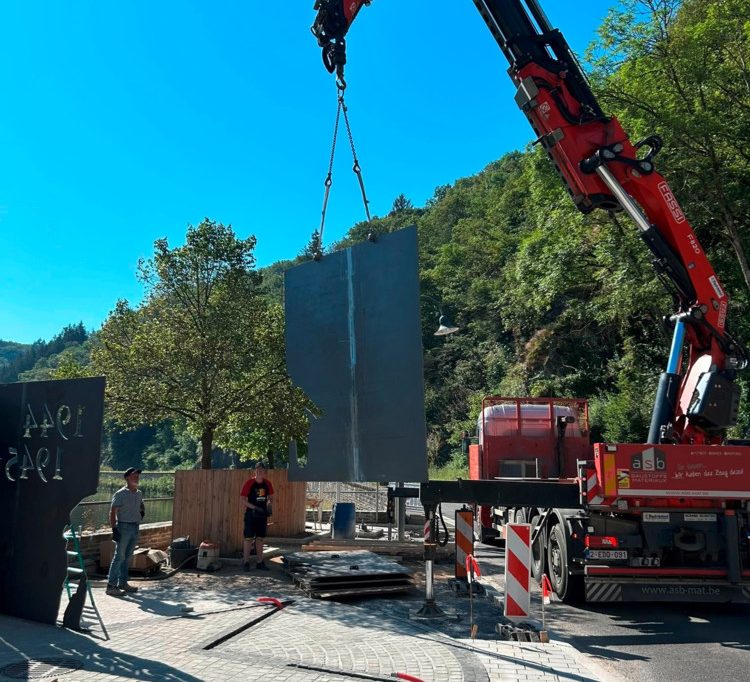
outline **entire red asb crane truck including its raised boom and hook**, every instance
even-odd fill
[[[488,399],[471,448],[476,480],[422,484],[425,513],[473,501],[485,532],[532,522],[534,574],[546,571],[564,600],[748,602],[750,444],[727,439],[748,356],[727,329],[728,296],[655,169],[662,142],[633,143],[604,113],[537,0],[473,1],[575,205],[626,213],[652,252],[674,298],[674,331],[646,443],[592,449],[583,401]],[[366,4],[315,5],[312,30],[339,87],[345,35]]]

